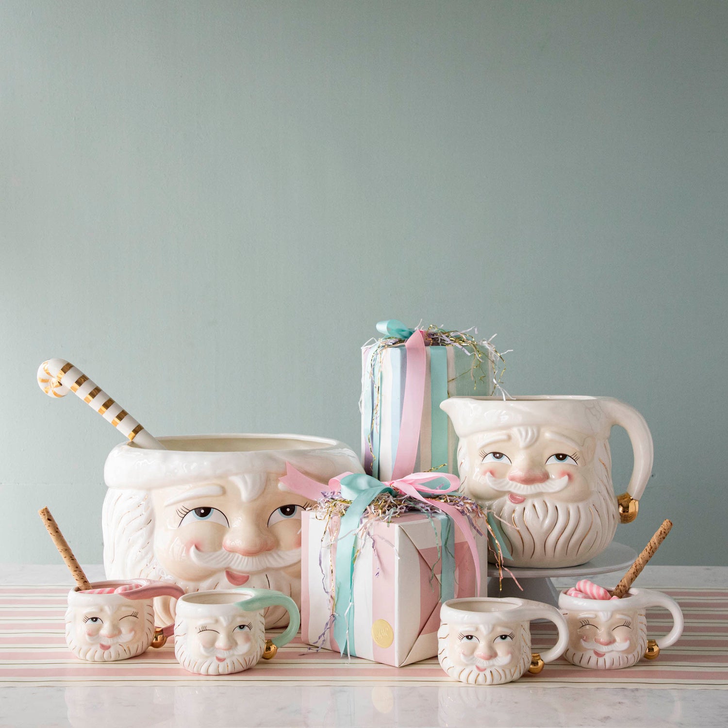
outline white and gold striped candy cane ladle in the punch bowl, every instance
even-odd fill
[[[97,387],[79,368],[63,359],[49,359],[38,368],[38,386],[49,397],[64,397],[74,392],[106,422],[141,448],[166,450],[164,445],[149,434],[121,405]]]

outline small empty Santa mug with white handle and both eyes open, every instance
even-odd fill
[[[543,655],[531,653],[531,620],[549,620],[556,644]],[[553,606],[521,598],[450,599],[440,607],[438,660],[451,678],[471,685],[518,680],[537,674],[560,657],[569,640],[566,620]]]

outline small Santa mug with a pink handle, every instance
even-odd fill
[[[95,582],[91,589],[68,592],[66,644],[80,660],[127,660],[150,645],[161,647],[174,625],[154,626],[154,598],[179,598],[183,591],[168,582]]]

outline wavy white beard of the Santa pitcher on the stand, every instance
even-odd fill
[[[580,503],[545,495],[515,504],[505,495],[489,506],[507,539],[507,566],[576,566],[604,551],[617,530],[614,496],[601,486]]]

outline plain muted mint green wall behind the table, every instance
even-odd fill
[[[513,394],[652,427],[641,547],[727,564],[728,4],[0,4],[5,561],[101,559],[119,435],[35,383],[79,365],[157,435],[358,449],[377,320],[497,333]],[[614,480],[631,454],[614,433]]]

